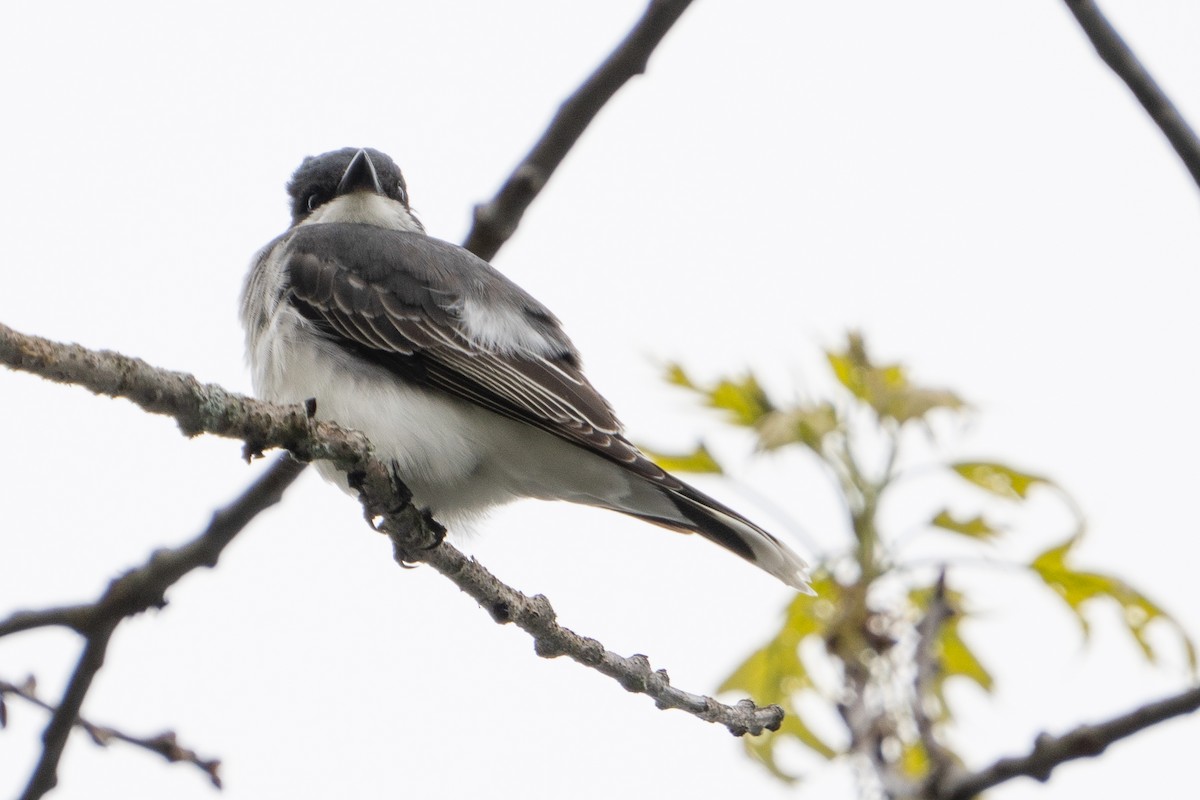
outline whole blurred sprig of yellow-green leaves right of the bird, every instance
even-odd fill
[[[799,776],[779,763],[784,742],[798,744],[824,759],[853,753],[870,763],[880,786],[908,786],[914,795],[937,771],[959,763],[944,741],[944,728],[953,718],[944,686],[952,680],[984,692],[994,686],[991,672],[961,636],[968,597],[948,588],[954,558],[924,567],[905,564],[898,555],[900,537],[884,535],[877,518],[884,495],[910,491],[895,485],[916,471],[902,467],[913,461],[910,456],[914,450],[924,457],[923,475],[953,476],[961,487],[959,494],[977,510],[955,513],[949,507],[952,498],[943,498],[946,507],[917,531],[905,531],[906,540],[914,533],[942,531],[960,537],[958,551],[991,548],[1006,529],[988,518],[989,497],[995,506],[997,498],[1024,504],[1038,489],[1050,493],[1069,511],[1074,530],[1064,542],[1032,560],[1014,563],[1016,573],[1033,575],[1049,587],[1048,597],[1057,596],[1066,603],[1085,637],[1088,608],[1096,602],[1115,602],[1133,640],[1152,662],[1158,654],[1147,627],[1154,622],[1168,627],[1195,673],[1195,648],[1166,612],[1123,581],[1070,564],[1084,521],[1061,487],[1007,464],[941,462],[931,437],[907,435],[911,429],[930,432],[937,415],[960,415],[967,407],[956,393],[913,383],[901,365],[876,363],[857,333],[847,337],[844,349],[826,356],[839,386],[835,396],[791,404],[768,397],[749,373],[712,384],[692,379],[679,365],[670,365],[666,374],[670,383],[720,410],[730,425],[750,429],[758,450],[798,447],[818,459],[847,510],[850,535],[844,548],[821,557],[815,565],[817,596],[798,595],[785,609],[778,633],[720,686],[722,692],[778,703],[787,712],[780,730],[745,738],[755,760],[791,782]],[[722,471],[703,444],[690,453],[656,458],[676,471]],[[953,499],[955,505],[962,500]],[[818,681],[815,675],[826,678]],[[832,684],[828,675],[836,676]],[[815,723],[814,712],[823,717],[822,724]]]

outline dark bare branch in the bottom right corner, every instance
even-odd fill
[[[1099,756],[1115,741],[1132,736],[1151,726],[1172,717],[1190,714],[1200,708],[1200,687],[1189,688],[1174,697],[1148,703],[1108,722],[1085,724],[1061,736],[1042,734],[1028,756],[1002,758],[978,772],[948,781],[937,793],[940,800],[970,800],[979,793],[1014,777],[1027,775],[1037,781],[1050,780],[1060,764]]]

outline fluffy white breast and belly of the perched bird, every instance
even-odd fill
[[[605,459],[444,393],[407,384],[311,330],[287,303],[251,344],[254,391],[276,403],[317,401],[318,419],[367,435],[413,500],[456,524],[517,498],[622,507],[634,487]],[[346,486],[331,467],[325,477]],[[642,499],[644,505],[662,499]],[[664,505],[664,513],[668,511]]]

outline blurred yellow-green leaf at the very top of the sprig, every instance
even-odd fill
[[[846,350],[827,351],[826,357],[841,385],[875,409],[880,417],[904,425],[922,420],[935,409],[956,410],[966,405],[949,390],[912,385],[900,365],[874,363],[862,335],[850,333],[847,339]]]

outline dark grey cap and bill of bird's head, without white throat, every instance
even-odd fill
[[[412,215],[408,187],[395,161],[373,148],[342,148],[308,156],[292,175],[292,224],[300,224],[335,198],[360,191],[390,198]]]

